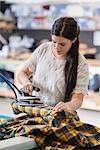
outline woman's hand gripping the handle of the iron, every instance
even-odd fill
[[[29,95],[32,95],[32,91],[33,91],[33,86],[32,86],[32,83],[30,81],[27,81],[23,84],[23,87],[22,87],[23,91],[25,93],[28,93]]]

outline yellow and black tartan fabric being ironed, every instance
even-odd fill
[[[82,123],[76,112],[53,114],[50,107],[26,107],[12,104],[13,110],[26,115],[0,124],[0,139],[15,136],[33,138],[43,150],[72,150],[100,145],[100,128]]]

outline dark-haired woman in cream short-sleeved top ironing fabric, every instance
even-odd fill
[[[73,18],[57,19],[52,41],[40,45],[18,74],[23,90],[32,94],[33,86],[38,87],[42,102],[54,106],[55,112],[75,111],[87,94],[89,72],[79,54],[79,33]],[[29,81],[31,74],[33,83]]]

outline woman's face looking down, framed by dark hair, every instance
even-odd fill
[[[72,40],[61,36],[52,35],[53,53],[58,58],[66,57],[69,49],[72,46]]]

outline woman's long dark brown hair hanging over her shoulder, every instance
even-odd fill
[[[76,39],[75,42],[73,42],[70,50],[68,51],[68,54],[66,56],[66,64],[64,68],[66,83],[64,101],[69,101],[77,80],[80,27],[78,26],[74,18],[61,17],[55,20],[51,33],[52,35],[62,36],[72,41]]]

